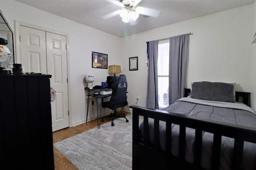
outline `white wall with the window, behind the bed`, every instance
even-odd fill
[[[236,91],[250,92],[252,11],[252,5],[243,6],[124,37],[129,104],[138,95],[138,105],[146,106],[146,41],[189,32],[186,88],[195,81],[236,82]],[[128,58],[136,56],[139,70],[129,71]]]

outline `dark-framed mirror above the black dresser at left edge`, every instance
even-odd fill
[[[0,10],[0,38],[4,38],[8,41],[8,44],[5,45],[10,52],[12,53],[11,63],[14,62],[14,41],[13,41],[13,31],[8,24],[7,20],[4,18],[2,11]]]

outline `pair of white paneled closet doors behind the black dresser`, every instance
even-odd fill
[[[52,107],[52,131],[69,126],[66,36],[20,26],[21,63],[26,72],[52,75],[56,91]]]

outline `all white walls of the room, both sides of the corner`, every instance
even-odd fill
[[[92,68],[91,52],[108,54],[108,65],[120,64],[122,74],[128,80],[128,103],[146,106],[147,69],[146,41],[164,39],[188,32],[190,35],[188,74],[186,87],[194,81],[236,82],[237,91],[256,90],[255,70],[251,75],[252,34],[256,30],[253,21],[254,5],[243,6],[167,25],[150,31],[119,38],[86,25],[32,8],[14,0],[0,0],[0,9],[14,30],[14,20],[68,33],[70,37],[70,76],[71,76],[71,125],[82,123],[86,112],[85,74],[96,77],[94,85],[106,80],[107,69]],[[255,20],[255,14],[254,14]],[[254,25],[254,30],[252,27]],[[138,71],[129,71],[129,57],[138,56]],[[254,57],[254,63],[256,62]],[[252,83],[251,83],[252,78]],[[254,94],[254,95],[253,95]],[[253,98],[254,101],[256,97]],[[96,108],[94,107],[96,112]],[[108,111],[108,110],[107,110]],[[89,117],[92,119],[91,107]]]

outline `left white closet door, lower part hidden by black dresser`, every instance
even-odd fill
[[[45,31],[20,26],[21,63],[26,72],[47,74]]]

